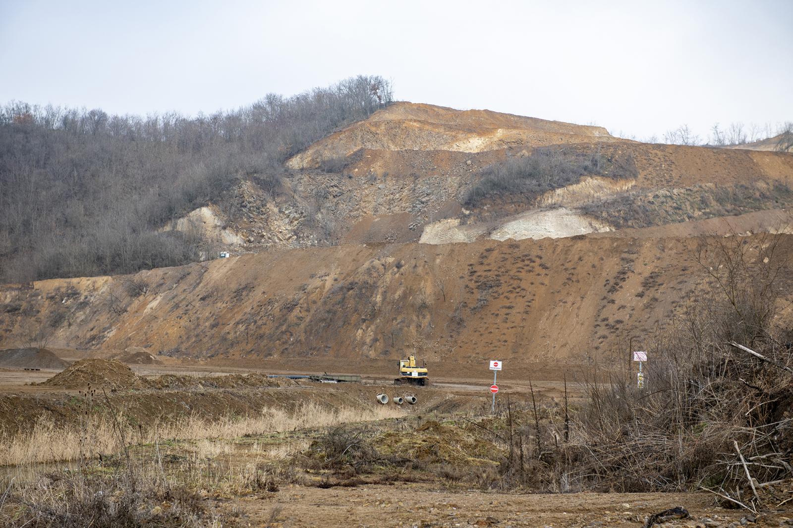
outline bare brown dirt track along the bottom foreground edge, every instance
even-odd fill
[[[664,526],[728,526],[745,512],[714,507],[705,493],[528,495],[441,491],[415,483],[358,488],[284,487],[234,503],[251,526],[642,526],[648,515],[683,506],[691,519]],[[769,524],[772,522],[772,524]],[[778,526],[780,517],[756,525]]]

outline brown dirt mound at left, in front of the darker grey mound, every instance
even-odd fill
[[[132,372],[127,365],[114,359],[81,359],[62,373],[57,373],[42,385],[63,388],[142,388],[147,386],[144,378]]]

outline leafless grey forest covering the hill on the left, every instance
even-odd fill
[[[274,199],[282,163],[393,99],[358,75],[195,118],[0,106],[0,282],[132,274],[201,260],[200,234],[160,231],[251,178]]]

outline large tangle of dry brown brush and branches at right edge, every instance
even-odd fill
[[[700,247],[710,280],[653,339],[646,388],[629,372],[588,383],[565,445],[573,484],[626,492],[705,484],[727,495],[748,484],[741,457],[757,480],[791,473],[783,459],[793,450],[793,352],[778,317],[790,288],[787,243],[734,236]]]

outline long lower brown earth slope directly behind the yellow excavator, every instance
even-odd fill
[[[789,254],[791,235],[778,235]],[[750,239],[751,240],[751,239]],[[703,281],[697,239],[582,238],[267,251],[128,277],[0,287],[9,342],[196,358],[592,358],[665,324]]]

